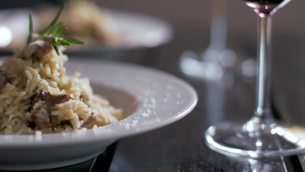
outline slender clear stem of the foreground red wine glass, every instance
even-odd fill
[[[270,54],[271,16],[259,14],[258,29],[258,76],[256,80],[255,116],[261,120],[271,118],[271,54]]]

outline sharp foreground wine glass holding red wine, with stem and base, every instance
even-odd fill
[[[272,118],[270,27],[271,16],[290,0],[242,0],[254,9],[259,18],[258,74],[256,109],[246,123],[223,122],[205,132],[207,145],[220,153],[232,156],[261,158],[291,155],[303,151],[304,141],[289,135],[285,125]]]

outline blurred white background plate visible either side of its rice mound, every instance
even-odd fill
[[[12,40],[25,42],[29,33],[29,9],[10,9],[0,11],[0,48],[6,47]],[[109,49],[132,49],[156,47],[169,42],[173,37],[171,26],[158,18],[123,11],[109,11],[110,19],[107,27],[122,34],[122,42],[116,46],[96,45],[80,48],[90,51],[106,51]],[[39,25],[35,13],[32,12],[34,28]],[[78,49],[71,49],[76,51]]]

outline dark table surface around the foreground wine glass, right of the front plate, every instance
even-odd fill
[[[196,32],[193,31],[193,34],[196,35]],[[302,171],[301,155],[264,160],[236,159],[218,154],[204,144],[203,134],[210,125],[222,120],[246,121],[252,115],[255,82],[253,78],[243,79],[238,70],[232,74],[234,84],[229,88],[224,88],[223,83],[183,75],[177,64],[181,52],[185,50],[185,43],[194,44],[191,45],[193,47],[199,44],[199,41],[196,44],[196,39],[187,39],[185,32],[177,32],[173,42],[140,63],[170,72],[191,83],[199,95],[197,107],[174,124],[121,139],[109,171]],[[293,38],[287,37],[286,40],[289,39]],[[275,42],[278,41],[275,39]],[[281,46],[275,44],[274,48]],[[240,61],[246,59],[242,55],[238,56]],[[286,55],[295,56],[295,59],[285,60]],[[298,122],[303,119],[299,113],[305,110],[300,101],[304,93],[295,90],[301,89],[305,81],[301,75],[301,55],[281,51],[274,53],[274,56],[274,113],[290,123],[304,124]],[[296,73],[299,75],[295,76]]]

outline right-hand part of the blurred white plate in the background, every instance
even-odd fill
[[[172,27],[161,19],[122,11],[110,11],[110,16],[110,26],[123,34],[126,47],[156,47],[173,37]]]

